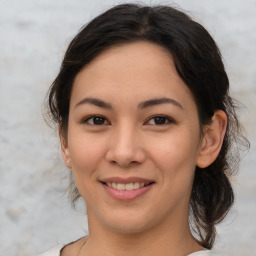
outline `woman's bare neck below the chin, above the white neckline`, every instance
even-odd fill
[[[164,223],[132,234],[99,227],[90,216],[88,223],[89,237],[81,256],[184,256],[203,249],[192,237],[187,222]]]

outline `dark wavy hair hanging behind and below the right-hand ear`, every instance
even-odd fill
[[[199,235],[202,245],[212,248],[216,224],[228,214],[234,203],[231,178],[238,170],[240,155],[238,144],[249,148],[235,113],[235,104],[226,96],[227,131],[217,159],[207,168],[196,167],[191,193],[192,229]]]

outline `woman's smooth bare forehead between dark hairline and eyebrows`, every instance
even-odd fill
[[[147,41],[112,46],[99,54],[75,78],[72,96],[79,100],[84,94],[110,100],[114,96],[138,100],[191,97],[171,54]]]

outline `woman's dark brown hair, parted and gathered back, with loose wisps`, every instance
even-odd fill
[[[201,126],[209,124],[216,110],[227,114],[228,126],[220,154],[207,168],[196,167],[191,192],[191,228],[201,245],[210,249],[215,240],[215,225],[234,202],[229,177],[239,162],[234,145],[243,137],[220,51],[202,25],[167,6],[122,4],[99,15],[81,29],[66,51],[49,91],[51,118],[65,137],[70,94],[78,72],[107,48],[139,40],[154,42],[171,53],[179,76],[194,95]],[[75,202],[80,195],[73,181],[70,189]]]

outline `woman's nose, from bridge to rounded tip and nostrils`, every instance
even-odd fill
[[[120,128],[113,132],[110,140],[106,159],[111,164],[127,168],[145,161],[146,154],[136,129]]]

